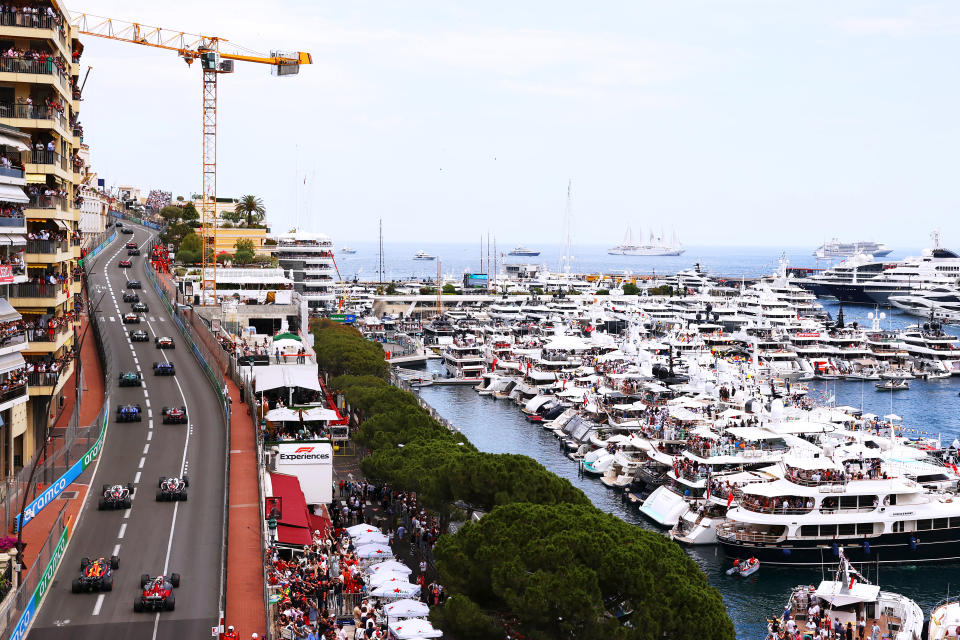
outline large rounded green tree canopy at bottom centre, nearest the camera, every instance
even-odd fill
[[[589,505],[499,506],[434,553],[462,601],[432,615],[456,637],[496,637],[461,628],[484,618],[499,637],[507,622],[537,640],[734,637],[720,593],[676,543]]]

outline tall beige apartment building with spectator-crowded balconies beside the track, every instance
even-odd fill
[[[0,381],[8,380],[6,393],[12,394],[0,402],[0,463],[9,474],[30,460],[63,406],[63,394],[72,393],[64,386],[74,369],[81,293],[75,269],[81,250],[78,184],[85,170],[77,88],[83,47],[71,33],[65,7],[38,1],[0,13],[0,52],[0,138],[10,142],[3,144],[10,166],[0,167],[0,210],[17,205],[23,213],[18,227],[0,222],[0,233],[25,236],[22,252],[12,239],[0,246],[0,255],[5,249],[8,257],[21,256],[10,258],[9,271],[0,269],[0,280],[7,274],[0,288],[8,302],[0,308],[0,322],[24,329],[0,346]],[[24,202],[17,203],[9,187],[25,192]],[[20,368],[9,369],[14,365]],[[15,384],[21,374],[25,386]],[[0,398],[3,389],[0,382]]]

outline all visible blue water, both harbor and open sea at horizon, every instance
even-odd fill
[[[355,261],[348,258],[345,263],[356,264],[358,269],[366,269],[366,265],[371,264],[370,260],[361,253],[362,245],[358,243],[355,246],[358,249]],[[407,277],[415,275],[415,270],[420,266],[415,265],[409,256],[423,249],[439,256],[447,256],[443,259],[449,260],[451,269],[470,269],[469,256],[455,253],[454,246],[458,245],[424,244],[405,246],[402,250],[394,248],[391,252],[393,258],[388,259],[387,264],[392,265],[395,270],[392,272],[396,274],[394,277],[399,278],[400,274]],[[462,251],[466,252],[466,249]],[[540,258],[549,264],[549,260],[558,259],[560,253],[559,248],[549,250],[545,247]],[[772,273],[780,256],[784,254],[792,265],[818,266],[809,249],[691,247],[679,258],[626,260],[621,260],[618,256],[607,256],[604,248],[594,248],[592,251],[583,249],[580,253],[582,266],[575,270],[581,272],[611,273],[620,270],[653,273],[655,270],[657,273],[669,273],[700,262],[705,269],[717,275],[750,277]],[[904,255],[917,255],[917,252],[899,254],[900,257]],[[889,259],[897,257],[897,254],[892,254]],[[373,261],[374,265],[375,262],[376,260]],[[473,264],[478,263],[479,248],[477,260]],[[554,262],[554,265],[556,264]],[[412,273],[411,269],[414,270]],[[456,273],[448,271],[446,266],[443,271]],[[435,266],[433,273],[436,274]],[[822,303],[833,317],[837,316],[839,307],[836,302]],[[882,328],[899,328],[922,321],[891,308],[845,305],[843,311],[846,322],[858,322],[867,326],[872,322],[868,314],[882,313]],[[945,330],[958,335],[957,327],[945,327]],[[431,361],[427,366],[439,371],[436,361]],[[421,388],[419,393],[481,450],[531,456],[547,469],[582,489],[598,508],[638,527],[661,531],[641,516],[636,507],[624,502],[621,494],[607,489],[596,479],[578,477],[576,464],[564,455],[557,439],[540,426],[527,422],[515,405],[480,396],[472,388],[463,386],[434,385]],[[939,435],[944,446],[949,445],[955,438],[960,438],[960,377],[957,376],[934,381],[912,380],[909,390],[896,393],[877,391],[869,382],[815,381],[811,383],[810,394],[821,402],[835,406],[862,408],[878,415],[895,413],[903,418],[908,435]],[[731,566],[732,559],[727,558],[719,547],[685,548],[685,551],[706,573],[710,584],[720,590],[737,637],[743,640],[762,640],[766,637],[766,619],[782,613],[793,587],[802,584],[815,585],[826,577],[819,569],[772,566],[763,566],[748,578],[727,576],[725,571]],[[864,566],[860,569],[881,588],[913,598],[927,616],[938,601],[960,591],[960,564],[899,567],[883,565]],[[953,574],[955,570],[956,576]]]

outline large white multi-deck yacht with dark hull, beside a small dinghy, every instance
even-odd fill
[[[960,559],[960,500],[947,493],[956,474],[907,449],[788,455],[782,479],[743,487],[717,542],[772,565],[832,564],[841,550],[866,563]]]

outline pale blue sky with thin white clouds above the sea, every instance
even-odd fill
[[[265,11],[265,7],[270,7]],[[220,82],[219,193],[336,240],[558,243],[628,224],[685,244],[960,247],[960,5],[90,0],[79,11],[314,64]],[[132,11],[139,13],[133,14]],[[200,73],[84,39],[108,184],[199,190]],[[306,184],[304,185],[304,181]]]

